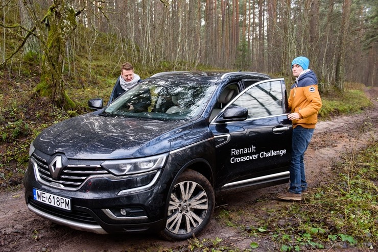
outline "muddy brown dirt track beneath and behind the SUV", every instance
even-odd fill
[[[370,89],[368,94],[374,102],[373,109],[359,115],[338,117],[317,124],[314,137],[305,154],[306,174],[310,186],[309,195],[317,187],[334,182],[337,174],[334,171],[334,164],[343,155],[364,147],[372,139],[376,141],[378,88]],[[366,121],[370,121],[373,128],[361,133],[359,129]],[[238,227],[228,225],[222,213],[239,211],[243,213],[241,221],[245,222],[245,226],[253,226],[250,222],[251,216],[269,218],[267,211],[262,210],[285,208],[290,204],[306,204],[306,198],[295,203],[278,200],[276,193],[283,192],[287,187],[288,185],[279,185],[219,196],[213,218],[197,239],[211,241],[219,238],[222,239],[223,246],[232,248],[234,251],[279,250],[268,233],[264,236],[246,235],[245,231]],[[306,197],[310,197],[309,195]],[[0,251],[191,251],[188,248],[190,242],[168,242],[156,235],[97,235],[72,230],[30,212],[25,204],[22,189],[0,192]],[[251,242],[257,243],[258,248],[251,249]],[[316,250],[336,251],[337,249],[342,248]],[[194,250],[211,251],[211,249]],[[368,249],[347,247],[342,250],[367,251]]]

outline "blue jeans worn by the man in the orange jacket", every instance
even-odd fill
[[[314,129],[305,129],[301,126],[293,129],[289,192],[299,194],[302,193],[302,189],[307,189],[303,158],[313,134]]]

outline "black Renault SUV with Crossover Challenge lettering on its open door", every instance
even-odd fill
[[[28,208],[98,234],[198,234],[216,193],[289,181],[284,79],[254,72],[164,72],[31,144]]]

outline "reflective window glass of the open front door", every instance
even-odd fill
[[[248,109],[248,118],[284,113],[280,81],[264,82],[249,88],[232,105]]]

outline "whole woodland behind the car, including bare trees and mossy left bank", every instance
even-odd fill
[[[0,19],[6,187],[19,185],[33,138],[88,112],[89,98],[106,101],[126,61],[142,79],[171,70],[245,70],[284,77],[289,88],[291,61],[306,56],[318,75],[323,117],[343,105],[347,112],[368,106],[347,87],[378,80],[377,0],[1,0]],[[336,96],[338,103],[327,102]]]

